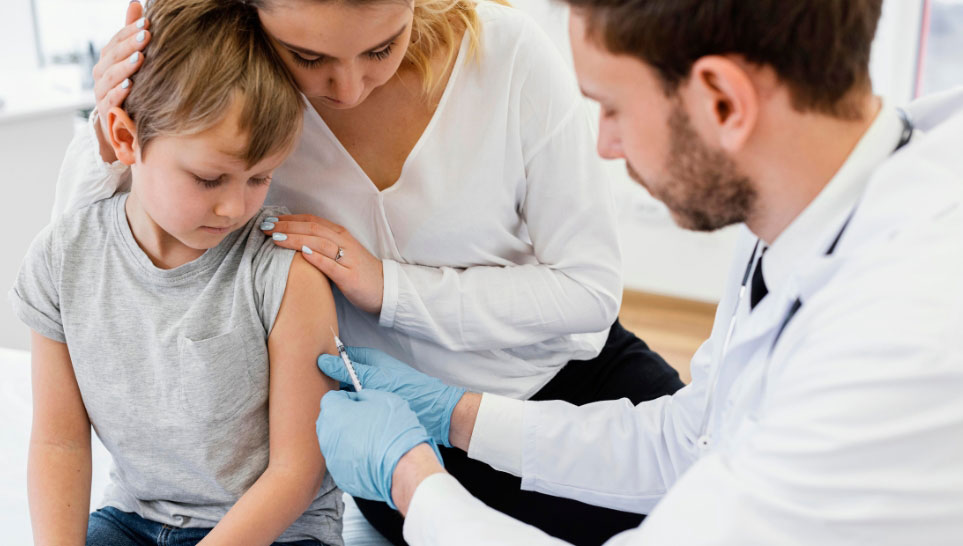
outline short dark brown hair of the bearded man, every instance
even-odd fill
[[[871,92],[869,53],[882,0],[564,0],[589,37],[636,57],[673,94],[706,55],[735,54],[775,70],[793,107],[859,117]]]

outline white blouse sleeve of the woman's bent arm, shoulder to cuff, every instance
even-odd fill
[[[519,50],[525,53],[513,70],[523,76],[513,92],[520,97],[524,193],[516,210],[490,214],[518,214],[535,263],[453,268],[385,260],[383,327],[470,351],[598,332],[618,316],[613,181],[595,150],[593,120],[571,69],[534,23]]]

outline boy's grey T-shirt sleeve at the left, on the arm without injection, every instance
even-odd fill
[[[60,268],[56,251],[56,223],[30,244],[9,298],[17,317],[38,334],[66,343],[60,315]]]

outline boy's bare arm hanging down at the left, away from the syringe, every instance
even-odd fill
[[[27,491],[35,544],[83,545],[90,511],[90,420],[67,345],[31,332],[33,427]]]

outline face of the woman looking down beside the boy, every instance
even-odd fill
[[[414,11],[410,1],[278,0],[258,15],[301,91],[347,109],[397,72]]]

